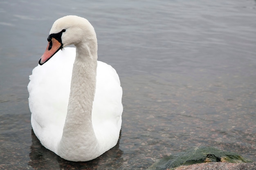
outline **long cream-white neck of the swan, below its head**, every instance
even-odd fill
[[[67,117],[60,147],[58,148],[58,152],[61,152],[60,155],[74,152],[74,148],[78,148],[77,153],[79,153],[81,147],[83,152],[97,150],[99,147],[92,126],[92,104],[96,90],[96,72],[97,50],[95,51],[88,44],[76,45],[76,59],[72,71]],[[72,151],[70,148],[72,148]]]

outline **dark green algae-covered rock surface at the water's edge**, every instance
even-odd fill
[[[148,170],[172,170],[183,165],[192,165],[205,162],[229,162],[245,163],[252,162],[235,152],[219,150],[213,147],[197,147],[184,152],[177,157],[169,156],[154,163]]]

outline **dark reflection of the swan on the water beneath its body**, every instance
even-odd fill
[[[31,129],[31,139],[32,144],[30,147],[30,161],[28,163],[29,166],[34,169],[110,169],[110,168],[119,168],[123,163],[122,155],[123,151],[119,149],[119,142],[121,139],[121,131],[119,135],[119,139],[117,145],[105,152],[103,155],[93,159],[91,161],[86,162],[73,162],[62,159],[54,152],[46,149],[44,146],[40,144],[40,141],[37,139],[33,130]],[[109,167],[109,168],[108,168]]]

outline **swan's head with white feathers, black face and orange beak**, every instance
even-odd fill
[[[40,65],[43,65],[67,45],[79,46],[93,43],[97,50],[97,38],[92,24],[85,18],[75,15],[67,15],[56,20],[47,41],[45,53],[39,60]]]

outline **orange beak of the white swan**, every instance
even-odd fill
[[[43,65],[60,49],[62,49],[62,44],[55,38],[52,38],[52,40],[48,43],[47,48],[45,49],[45,53],[43,53],[42,57],[40,58],[39,64]]]

